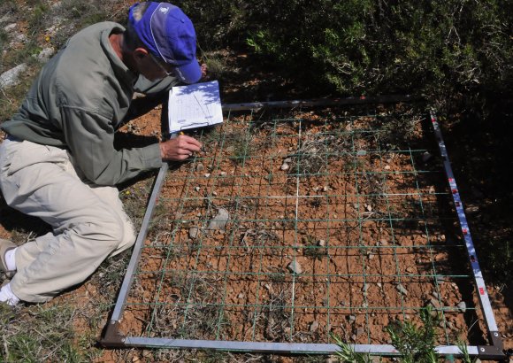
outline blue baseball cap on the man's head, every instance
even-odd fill
[[[173,4],[149,2],[142,18],[135,19],[137,5],[130,7],[128,22],[151,54],[173,66],[180,81],[199,81],[195,28],[188,16]]]

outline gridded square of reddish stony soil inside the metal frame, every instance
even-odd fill
[[[427,116],[238,112],[168,172],[123,305],[125,336],[389,344],[440,316],[483,342],[461,229]],[[464,305],[462,304],[464,303]]]

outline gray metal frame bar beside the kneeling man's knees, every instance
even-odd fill
[[[165,179],[165,174],[169,166],[167,163],[163,163],[160,166],[160,170],[157,174],[157,179],[155,180],[155,184],[153,185],[153,190],[151,191],[151,196],[149,197],[149,204],[146,208],[146,212],[144,213],[144,218],[141,224],[141,230],[139,231],[139,235],[137,235],[137,240],[134,244],[134,251],[132,251],[132,257],[130,258],[130,262],[128,267],[126,268],[125,278],[123,279],[123,283],[121,284],[121,289],[119,290],[118,300],[116,301],[116,305],[114,306],[114,311],[112,312],[111,322],[119,321],[121,319],[121,313],[123,313],[123,305],[126,303],[126,297],[128,297],[128,290],[130,290],[130,286],[134,281],[134,271],[137,268],[139,263],[139,259],[141,259],[141,251],[142,245],[144,244],[144,239],[148,233],[149,220],[153,214],[153,209],[155,208],[155,204],[157,203],[158,193],[162,188],[162,184]]]

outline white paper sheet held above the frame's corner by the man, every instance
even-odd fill
[[[169,92],[169,132],[223,122],[218,81],[173,87]]]

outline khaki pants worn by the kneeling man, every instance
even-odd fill
[[[62,149],[12,137],[0,145],[6,203],[53,228],[16,250],[11,290],[21,300],[50,300],[135,242],[118,189],[87,184],[77,171]]]

